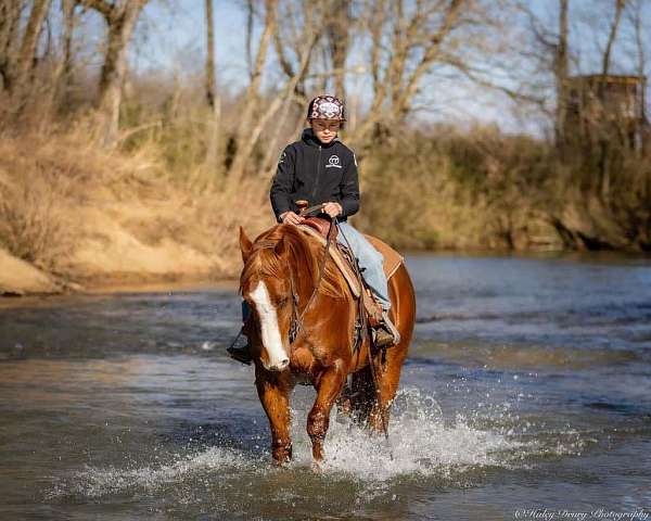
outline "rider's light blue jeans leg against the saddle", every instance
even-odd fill
[[[336,237],[336,242],[345,246],[350,246],[353,255],[357,257],[359,268],[363,270],[363,280],[367,285],[373,291],[382,308],[390,309],[388,284],[384,269],[382,268],[384,257],[362,233],[353,228],[348,223],[340,223],[339,226],[340,232]],[[347,243],[346,240],[348,241]]]

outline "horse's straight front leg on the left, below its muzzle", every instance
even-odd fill
[[[290,435],[290,393],[291,385],[283,373],[273,373],[256,367],[255,386],[269,418],[271,429],[271,455],[278,463],[292,459]]]

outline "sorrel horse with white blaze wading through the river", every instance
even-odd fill
[[[384,352],[371,350],[369,356],[368,338],[354,350],[355,298],[332,259],[322,262],[324,246],[315,238],[296,226],[277,225],[252,242],[240,228],[240,249],[244,262],[240,289],[253,310],[246,334],[255,384],[271,428],[273,459],[282,463],[292,457],[290,394],[297,382],[309,382],[317,391],[307,419],[315,460],[323,457],[330,411],[337,399],[371,430],[385,428],[416,315],[413,287],[404,264],[388,284],[400,342]],[[291,341],[296,314],[303,314],[303,321]]]

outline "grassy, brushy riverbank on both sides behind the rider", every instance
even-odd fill
[[[649,250],[648,211],[567,188],[544,143],[432,132],[360,158],[356,227],[400,251]],[[230,182],[201,154],[154,139],[106,151],[87,135],[80,120],[2,136],[0,295],[232,279],[239,227],[255,237],[275,223],[269,171]],[[472,156],[473,142],[493,152]]]

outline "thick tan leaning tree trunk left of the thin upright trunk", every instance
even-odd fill
[[[98,128],[102,145],[114,147],[117,141],[122,86],[127,69],[127,49],[146,0],[129,0],[113,16],[107,16],[106,55],[100,77]],[[115,8],[113,8],[115,9]]]

